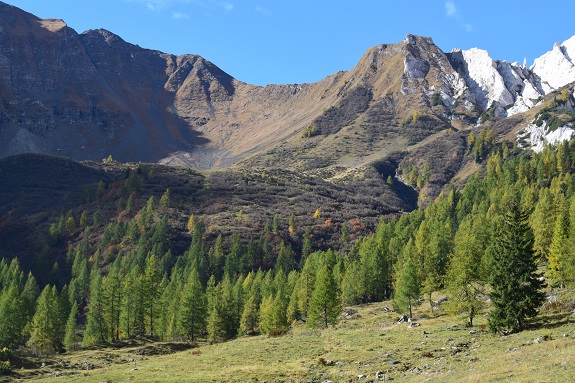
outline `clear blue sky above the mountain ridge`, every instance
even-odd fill
[[[351,69],[370,47],[406,34],[444,51],[486,49],[531,65],[575,35],[573,0],[7,0],[77,32],[105,28],[167,53],[199,54],[238,80],[321,80]]]

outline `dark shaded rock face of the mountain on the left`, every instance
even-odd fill
[[[0,28],[1,155],[154,160],[193,148],[193,132],[169,110],[169,56],[3,3]]]

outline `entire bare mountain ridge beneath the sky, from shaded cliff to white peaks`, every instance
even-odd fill
[[[445,54],[408,35],[317,83],[258,87],[197,55],[143,49],[101,29],[78,34],[0,2],[0,157],[112,155],[199,169],[244,162],[346,177],[474,126],[488,110],[528,110],[575,81],[573,57],[575,38],[526,68],[480,49]]]

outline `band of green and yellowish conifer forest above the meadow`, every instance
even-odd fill
[[[442,289],[447,308],[469,325],[490,297],[490,328],[521,330],[543,301],[539,265],[553,285],[575,282],[573,170],[574,143],[532,157],[503,144],[465,187],[382,219],[373,235],[341,252],[314,251],[308,228],[296,253],[277,235],[277,222],[260,238],[220,236],[208,246],[202,220],[191,219],[189,247],[175,254],[167,191],[101,234],[92,226],[98,220],[82,220],[62,287],[41,288],[17,259],[1,260],[0,347],[48,353],[138,336],[220,342],[282,333],[294,321],[328,327],[344,305],[390,298],[411,313],[424,297],[433,311],[432,293]],[[51,228],[54,241],[68,221]]]

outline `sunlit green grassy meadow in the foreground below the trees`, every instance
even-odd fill
[[[509,336],[424,304],[418,327],[397,323],[390,302],[353,307],[335,328],[296,324],[284,336],[243,337],[186,349],[135,342],[35,360],[17,381],[45,382],[569,382],[575,378],[575,318],[543,313],[533,329]],[[379,375],[376,375],[377,372]],[[18,380],[21,378],[21,380]]]

